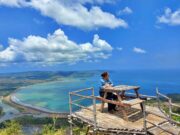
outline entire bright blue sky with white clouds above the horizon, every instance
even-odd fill
[[[178,0],[0,0],[0,72],[180,69]]]

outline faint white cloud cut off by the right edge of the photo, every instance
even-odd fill
[[[166,8],[164,15],[157,17],[157,19],[159,23],[180,25],[180,9],[172,12],[170,8]]]

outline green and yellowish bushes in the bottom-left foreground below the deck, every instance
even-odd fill
[[[23,126],[36,125],[40,130],[34,131],[33,135],[66,135],[69,134],[67,119],[62,118],[34,118],[31,116],[17,118],[0,124],[0,135],[25,135]],[[86,127],[74,128],[74,135],[84,135]]]

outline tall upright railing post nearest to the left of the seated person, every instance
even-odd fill
[[[93,95],[93,117],[94,117],[94,135],[96,135],[97,130],[97,122],[96,122],[96,98],[94,94],[94,88],[92,88],[92,95]]]

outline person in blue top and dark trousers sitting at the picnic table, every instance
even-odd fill
[[[101,97],[104,97],[104,88],[109,87],[109,86],[113,86],[113,83],[111,81],[111,79],[109,78],[109,74],[108,72],[104,72],[101,74],[101,82],[100,82],[100,91],[99,91],[99,95]],[[113,94],[112,92],[108,92],[106,99],[108,100],[117,100],[117,96],[115,94]],[[108,103],[108,112],[109,113],[113,113],[116,110],[116,105]]]

